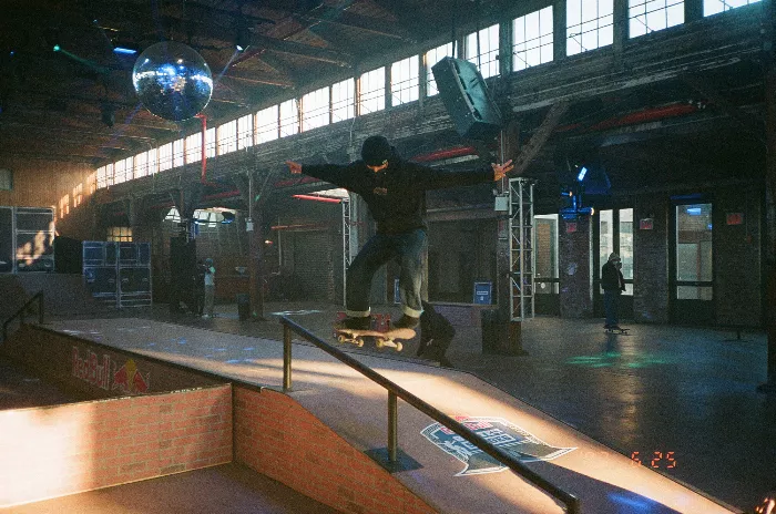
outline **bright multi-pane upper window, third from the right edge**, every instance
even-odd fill
[[[614,0],[566,0],[568,55],[612,44]]]

